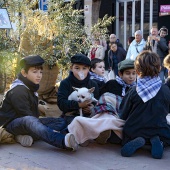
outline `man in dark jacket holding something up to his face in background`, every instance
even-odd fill
[[[148,40],[147,40],[144,50],[150,50],[159,55],[160,60],[161,60],[161,71],[159,73],[159,76],[161,80],[164,82],[166,71],[165,71],[165,68],[163,67],[163,60],[165,58],[166,51],[168,51],[168,46],[166,44],[165,38],[160,37],[158,35],[157,27],[151,28],[150,35],[148,36]]]

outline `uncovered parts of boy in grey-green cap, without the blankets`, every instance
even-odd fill
[[[136,71],[134,69],[134,61],[126,59],[118,63],[118,74],[115,80],[109,80],[103,88],[100,90],[100,95],[104,93],[112,93],[121,97],[125,96],[125,93],[129,90],[130,87],[136,85]],[[120,143],[121,140],[115,136],[114,132],[102,132],[100,136],[96,139],[97,143],[104,144],[106,143],[106,136],[110,136],[108,141],[110,143]]]

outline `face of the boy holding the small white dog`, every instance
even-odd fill
[[[87,77],[89,69],[90,67],[87,65],[73,64],[71,66],[71,71],[78,80],[84,80]]]

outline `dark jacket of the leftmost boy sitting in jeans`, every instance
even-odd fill
[[[9,90],[0,105],[0,126],[24,116],[39,117],[38,98],[23,85]]]

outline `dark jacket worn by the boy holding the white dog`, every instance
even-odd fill
[[[90,79],[90,75],[80,81],[76,77],[74,77],[73,73],[70,72],[70,75],[61,81],[58,93],[57,93],[57,104],[63,113],[78,111],[79,106],[78,102],[73,100],[68,100],[68,96],[74,91],[73,87],[81,88],[86,87],[88,89],[95,87],[95,91],[93,92],[94,97],[96,99],[99,98],[99,89],[96,82]]]

